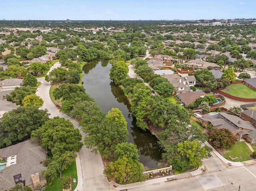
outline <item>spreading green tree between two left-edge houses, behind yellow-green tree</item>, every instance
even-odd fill
[[[10,95],[6,95],[8,101],[19,100],[22,102],[24,97],[36,93],[36,90],[29,86],[16,87]]]

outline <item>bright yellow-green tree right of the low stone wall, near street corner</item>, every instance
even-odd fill
[[[206,158],[207,151],[201,144],[196,140],[184,141],[183,143],[178,143],[178,152],[189,159],[189,165],[192,168],[197,168],[202,165],[200,159]]]

